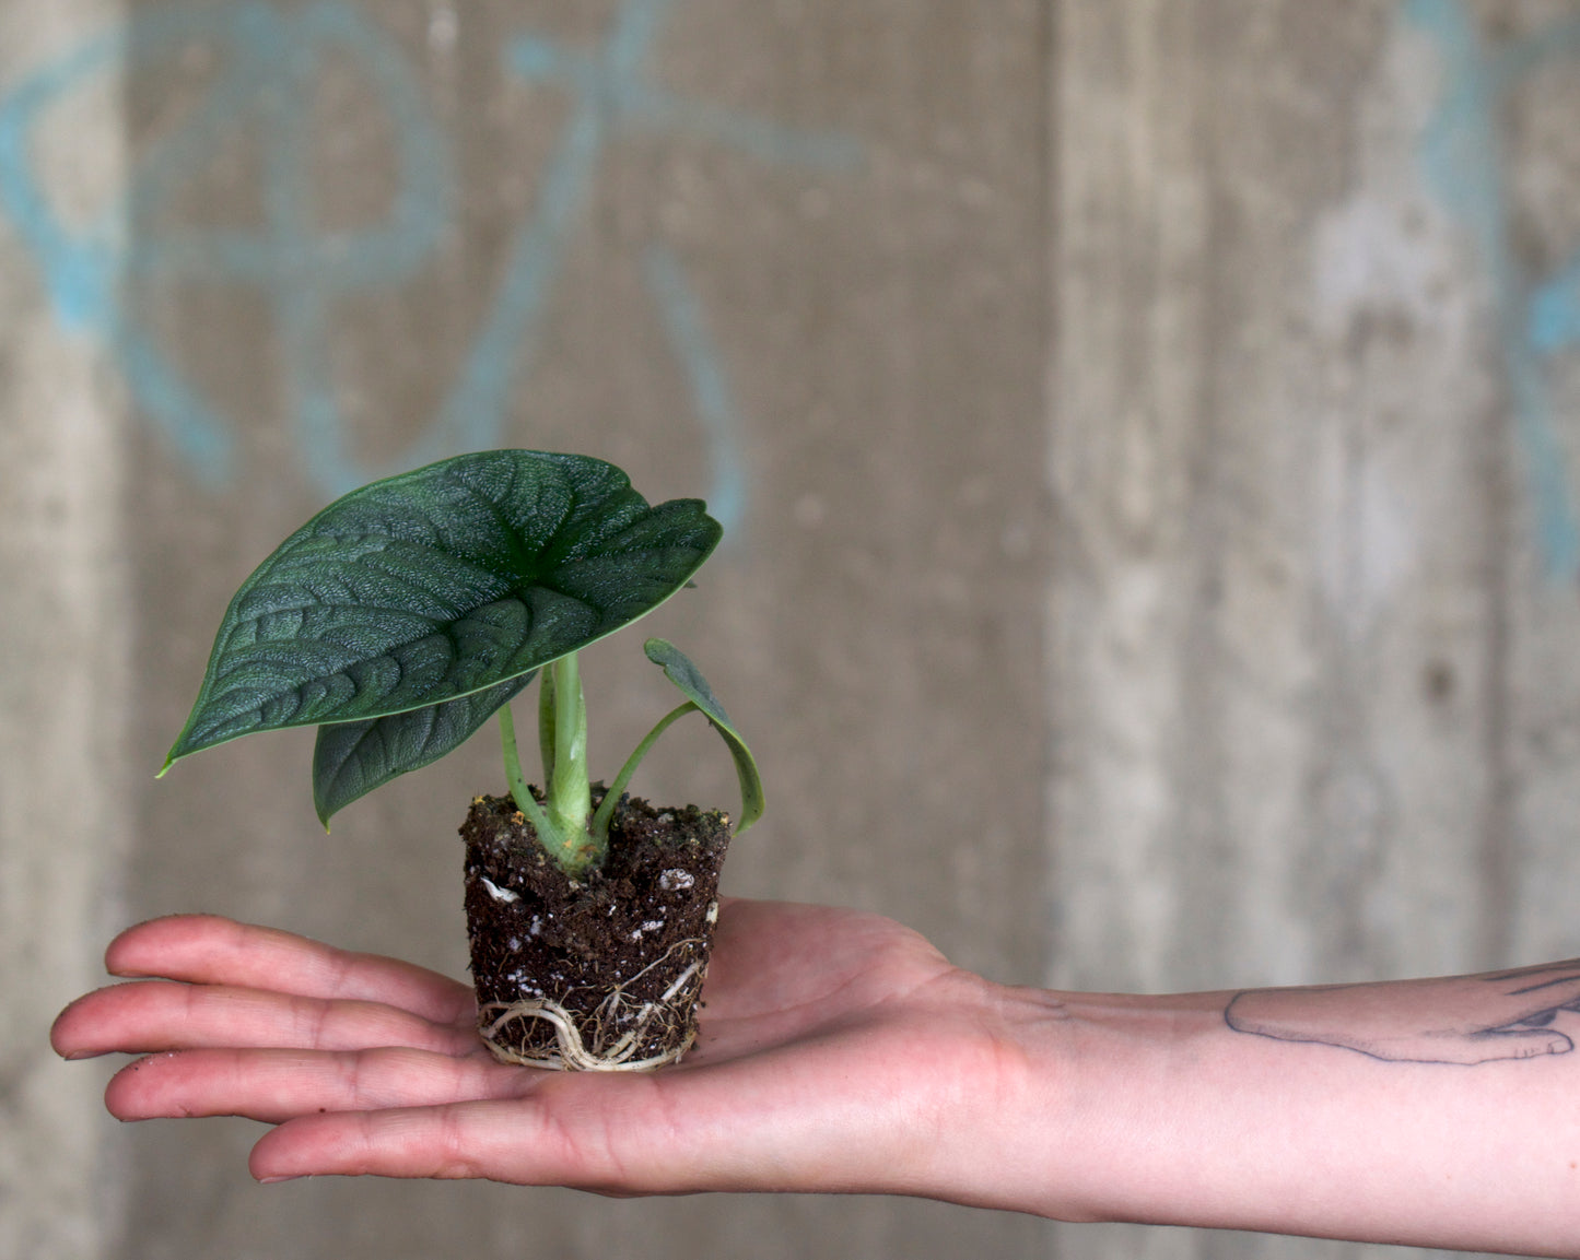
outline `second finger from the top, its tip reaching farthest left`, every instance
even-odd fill
[[[376,1045],[463,1055],[476,1047],[476,1033],[384,1003],[137,981],[77,998],[55,1018],[51,1044],[65,1058],[199,1047],[362,1050]]]

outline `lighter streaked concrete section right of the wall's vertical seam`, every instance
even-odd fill
[[[1574,955],[1574,8],[1059,13],[1051,977]]]

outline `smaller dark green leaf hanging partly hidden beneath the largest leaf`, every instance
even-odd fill
[[[461,747],[536,676],[532,669],[498,687],[427,709],[319,726],[313,747],[318,821],[327,827],[330,816],[357,797]]]

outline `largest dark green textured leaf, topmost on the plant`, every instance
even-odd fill
[[[356,489],[237,591],[166,769],[498,687],[660,605],[719,534],[702,502],[649,507],[581,455],[461,455]]]

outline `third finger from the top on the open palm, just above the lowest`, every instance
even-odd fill
[[[246,1116],[270,1124],[319,1112],[518,1097],[539,1072],[487,1055],[387,1047],[360,1052],[186,1050],[120,1069],[104,1091],[118,1119]]]

